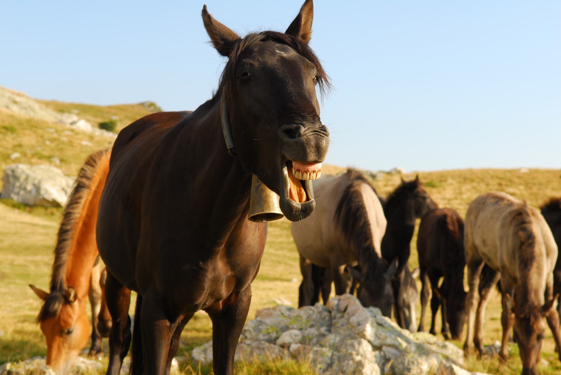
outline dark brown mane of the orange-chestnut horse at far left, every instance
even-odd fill
[[[57,244],[54,248],[53,273],[50,279],[50,293],[39,312],[37,320],[42,322],[46,318],[58,313],[65,302],[66,295],[66,263],[70,256],[75,237],[76,226],[80,220],[86,198],[91,193],[91,183],[94,180],[100,161],[111,149],[100,150],[88,156],[76,178],[76,185],[72,189],[65,209],[62,212],[61,226],[58,229]]]

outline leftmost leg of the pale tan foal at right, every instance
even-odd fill
[[[471,259],[468,258],[471,255]],[[475,327],[475,314],[479,305],[479,275],[485,263],[476,254],[475,249],[466,243],[467,283],[470,290],[466,296],[467,335],[463,344],[463,351],[469,354],[473,350],[473,328]]]

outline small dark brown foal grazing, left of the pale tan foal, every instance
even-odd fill
[[[463,220],[453,209],[436,209],[421,218],[417,237],[419,268],[421,271],[421,322],[419,331],[425,330],[424,318],[429,300],[429,283],[433,298],[430,307],[433,318],[430,333],[436,335],[436,312],[442,305],[442,335],[445,339],[459,340],[466,321],[466,291],[463,289],[463,269],[466,257],[463,250]],[[440,277],[444,277],[439,287]]]

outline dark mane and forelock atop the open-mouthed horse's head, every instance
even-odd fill
[[[312,64],[314,64],[316,70],[318,70],[318,86],[320,94],[325,94],[325,92],[331,89],[331,84],[329,82],[329,77],[325,73],[324,68],[312,49],[304,43],[304,41],[296,38],[295,36],[289,34],[278,33],[277,31],[261,31],[259,34],[247,34],[245,37],[236,41],[236,44],[232,48],[230,55],[228,56],[228,62],[224,67],[222,76],[220,77],[220,83],[218,85],[218,91],[214,95],[213,99],[218,98],[218,96],[223,92],[226,95],[226,100],[228,105],[232,108],[231,101],[233,100],[233,90],[237,84],[236,77],[236,65],[240,59],[240,55],[244,50],[260,43],[261,41],[276,41],[277,43],[286,44],[296,50],[298,54],[308,59]]]

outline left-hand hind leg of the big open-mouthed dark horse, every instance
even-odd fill
[[[131,303],[131,290],[121,284],[110,272],[105,281],[105,302],[113,321],[109,332],[108,375],[118,375],[123,358],[131,344],[131,318],[128,307]]]

